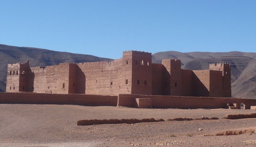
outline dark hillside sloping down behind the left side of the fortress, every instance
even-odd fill
[[[16,47],[0,44],[0,91],[5,91],[7,64],[30,60],[31,67],[58,65],[63,62],[80,63],[95,61],[111,61],[112,59],[100,58],[92,55],[83,55],[67,52],[56,52],[40,48]]]

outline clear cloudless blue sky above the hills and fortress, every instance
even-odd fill
[[[0,44],[119,59],[256,50],[256,0],[1,0]]]

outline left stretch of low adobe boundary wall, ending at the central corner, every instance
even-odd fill
[[[117,96],[89,94],[38,94],[0,92],[0,103],[72,104],[84,106],[116,106]]]

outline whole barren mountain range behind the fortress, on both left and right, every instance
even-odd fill
[[[0,44],[0,91],[5,91],[7,64],[20,61],[24,63],[28,59],[30,60],[31,67],[58,65],[63,62],[81,63],[113,60],[92,55]],[[162,59],[179,59],[181,60],[181,68],[190,70],[209,69],[209,63],[230,63],[232,96],[256,99],[256,53],[181,53],[167,51],[152,54],[153,63],[161,63]]]

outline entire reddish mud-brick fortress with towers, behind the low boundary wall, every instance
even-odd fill
[[[220,63],[210,64],[209,70],[185,70],[180,60],[154,64],[151,53],[125,51],[111,62],[8,64],[6,92],[231,97],[230,70],[230,64]]]

